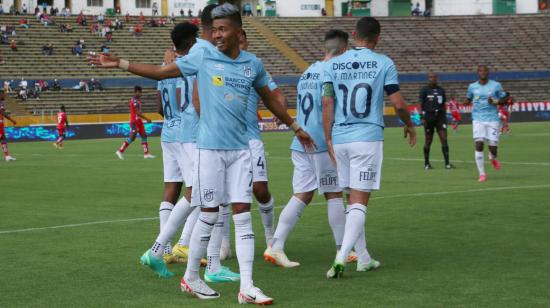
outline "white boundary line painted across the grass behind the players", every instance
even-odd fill
[[[462,194],[462,193],[471,193],[471,192],[486,192],[486,191],[500,191],[500,190],[517,190],[517,189],[535,189],[535,188],[550,188],[550,185],[530,185],[530,186],[504,186],[504,187],[490,187],[490,188],[476,188],[476,189],[466,189],[466,190],[455,190],[455,191],[437,191],[437,192],[424,192],[424,193],[414,193],[414,194],[399,194],[399,195],[390,195],[390,196],[380,196],[372,197],[370,200],[380,200],[380,199],[395,199],[403,197],[424,197],[424,196],[440,196],[440,195],[451,195],[451,194]],[[314,202],[310,203],[311,205],[321,205],[326,202]],[[275,208],[282,208],[283,206],[276,206]],[[51,230],[51,229],[63,229],[63,228],[75,228],[82,226],[91,226],[91,225],[100,225],[100,224],[109,224],[109,223],[120,223],[120,222],[134,222],[134,221],[146,221],[154,220],[158,217],[143,217],[143,218],[130,218],[130,219],[118,219],[118,220],[103,220],[103,221],[92,221],[79,224],[68,224],[68,225],[59,225],[59,226],[50,226],[50,227],[38,227],[38,228],[26,228],[26,229],[16,229],[16,230],[5,230],[0,231],[0,234],[12,234],[12,233],[21,233],[21,232],[30,232],[30,231],[40,231],[40,230]]]

